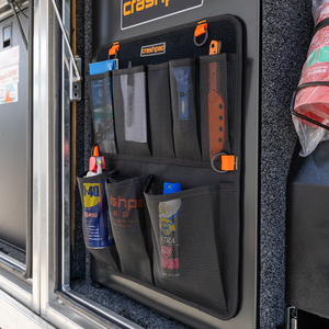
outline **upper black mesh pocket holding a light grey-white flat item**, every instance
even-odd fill
[[[145,66],[113,71],[113,101],[118,152],[150,156]]]

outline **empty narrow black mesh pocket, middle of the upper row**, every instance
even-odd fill
[[[173,158],[168,63],[149,65],[147,70],[152,156]]]

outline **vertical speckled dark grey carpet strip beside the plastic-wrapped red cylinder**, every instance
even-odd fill
[[[297,139],[288,107],[310,42],[310,2],[262,1],[261,329],[284,321],[286,180]]]

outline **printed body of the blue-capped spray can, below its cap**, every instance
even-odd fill
[[[161,243],[162,275],[180,275],[178,214],[181,211],[180,198],[159,203],[159,226]]]

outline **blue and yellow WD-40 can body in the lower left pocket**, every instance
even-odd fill
[[[105,181],[84,183],[86,245],[104,248],[114,243],[109,220]]]

